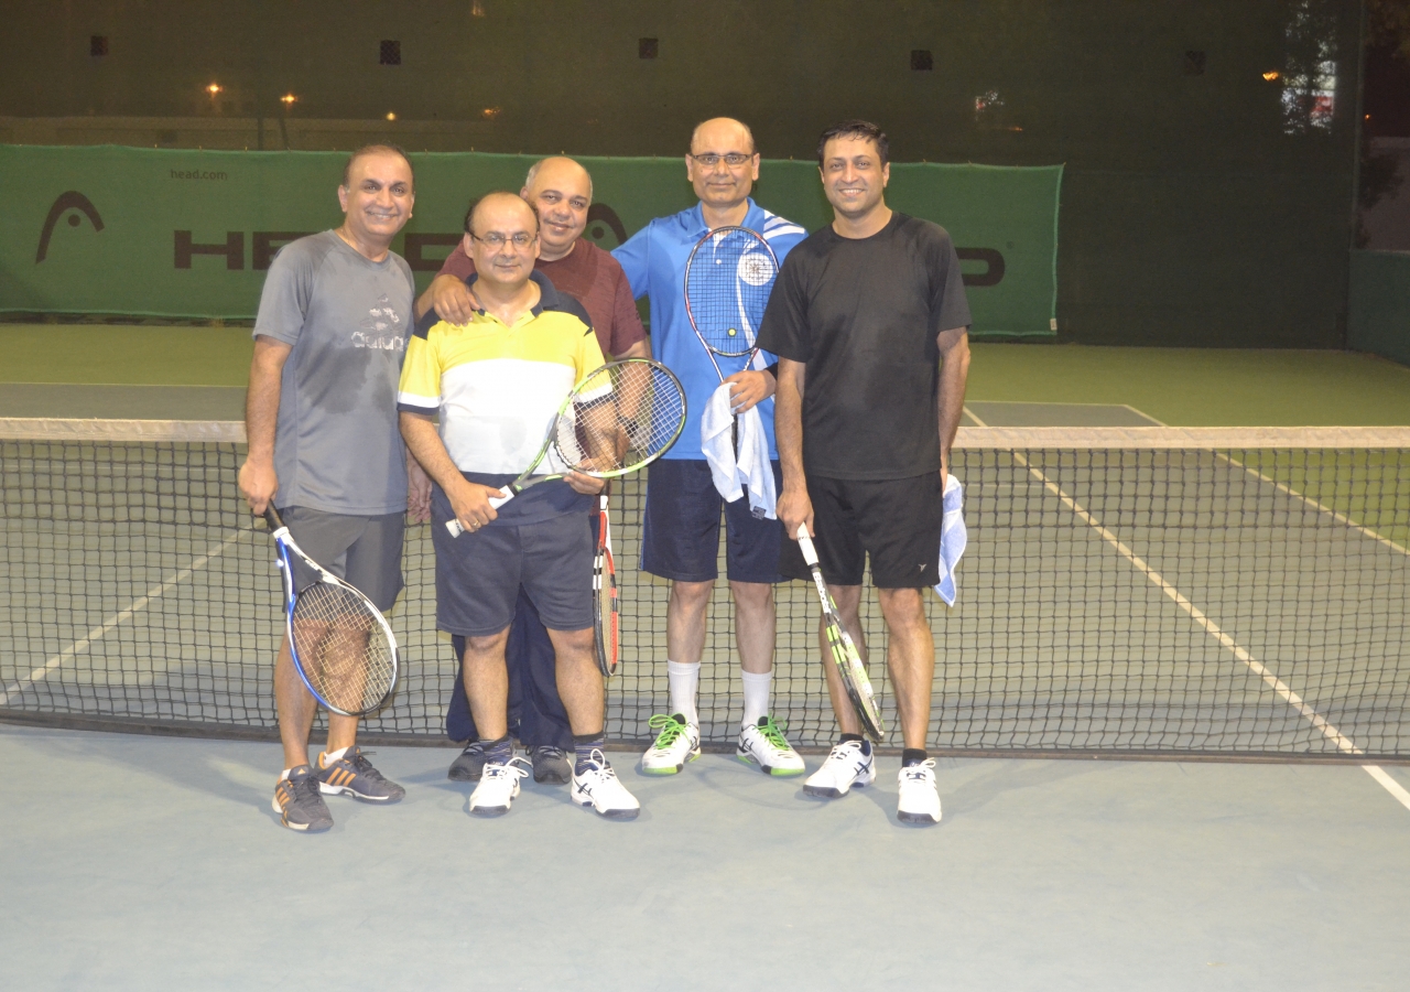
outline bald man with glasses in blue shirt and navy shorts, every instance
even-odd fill
[[[718,577],[719,518],[723,505],[729,588],[735,598],[744,714],[737,756],[770,775],[801,775],[802,758],[768,715],[774,656],[774,590],[783,529],[777,519],[756,519],[749,498],[725,502],[715,491],[701,450],[701,412],[719,388],[719,375],[685,312],[685,262],[691,250],[718,227],[749,227],[768,241],[780,262],[807,231],[756,205],[749,192],[759,179],[759,151],[749,127],[729,117],[699,124],[691,135],[685,174],[699,203],[671,217],[657,217],[613,251],[633,295],[651,299],[651,349],[685,387],[689,422],[666,456],[651,466],[642,536],[642,569],[671,580],[667,607],[667,677],[670,713],[651,718],[656,742],[642,756],[649,775],[673,775],[699,755],[695,696],[705,649],[705,611]],[[733,409],[759,406],[768,457],[781,480],[774,446],[773,371],[763,353],[752,368],[743,358],[721,358],[732,384]],[[729,363],[729,364],[726,364]]]

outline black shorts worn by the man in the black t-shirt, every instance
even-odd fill
[[[838,586],[860,586],[870,555],[877,588],[938,583],[943,492],[938,471],[874,481],[809,476],[812,543],[822,577]],[[790,579],[812,579],[797,540],[784,542],[778,570]]]

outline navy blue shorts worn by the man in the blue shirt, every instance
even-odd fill
[[[783,490],[783,473],[773,463]],[[725,569],[730,581],[778,583],[784,528],[756,519],[749,495],[725,502],[705,459],[661,459],[647,470],[642,571],[682,583],[719,577],[719,514],[725,509]]]

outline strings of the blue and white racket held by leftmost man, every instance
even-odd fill
[[[314,583],[299,593],[292,628],[303,675],[317,696],[347,713],[382,701],[396,672],[396,653],[361,595]]]

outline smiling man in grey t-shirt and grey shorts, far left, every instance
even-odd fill
[[[405,514],[426,519],[430,502],[396,422],[416,286],[389,246],[413,200],[406,155],[391,145],[361,148],[338,186],[343,224],[285,246],[269,265],[245,401],[250,454],[240,468],[251,509],[262,514],[274,502],[314,562],[384,611],[402,591]],[[300,588],[312,579],[296,574]],[[285,770],[274,810],[283,825],[331,827],[323,793],[381,803],[405,794],[357,746],[357,717],[330,713],[327,749],[317,766],[309,763],[316,703],[288,638],[275,665],[275,703]]]

